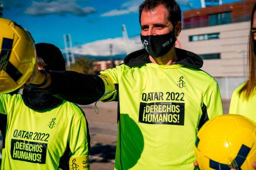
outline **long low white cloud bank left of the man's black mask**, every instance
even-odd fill
[[[74,47],[74,53],[80,55],[109,56],[110,44],[113,44],[113,55],[126,54],[126,49],[129,52],[133,52],[143,48],[140,36],[130,38],[128,44],[123,40],[123,37],[116,37],[76,46]]]

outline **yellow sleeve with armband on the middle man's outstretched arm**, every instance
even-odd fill
[[[105,93],[100,98],[102,102],[110,102],[117,97],[118,69],[120,69],[120,66],[100,72],[99,77],[105,85]]]

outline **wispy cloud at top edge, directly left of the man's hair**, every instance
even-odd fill
[[[102,14],[102,17],[110,17],[110,16],[118,16],[118,15],[126,15],[131,13],[137,13],[138,7],[144,0],[130,0],[128,2],[123,3],[120,9],[110,10],[107,13]]]

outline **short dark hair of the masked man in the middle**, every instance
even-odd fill
[[[172,22],[172,25],[176,25],[179,21],[181,21],[181,10],[176,0],[145,0],[139,6],[140,23],[141,13],[143,10],[154,10],[159,5],[163,5],[168,10],[169,20]]]

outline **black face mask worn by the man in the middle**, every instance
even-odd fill
[[[171,50],[177,40],[174,32],[173,30],[163,35],[141,35],[141,42],[149,55],[154,58],[162,57]]]

